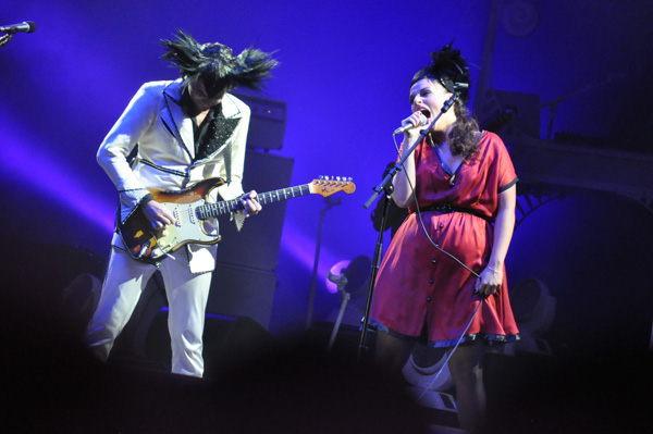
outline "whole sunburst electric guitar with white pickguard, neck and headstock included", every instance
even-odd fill
[[[156,201],[168,208],[177,223],[156,230],[140,208],[136,209],[124,223],[119,224],[119,233],[134,259],[145,263],[159,264],[171,252],[187,244],[212,245],[220,241],[218,231],[208,233],[204,221],[243,209],[238,199],[209,202],[208,195],[224,184],[222,178],[209,178],[192,188],[178,191],[150,190]],[[323,197],[337,191],[352,194],[356,186],[352,178],[324,177],[309,184],[282,188],[257,195],[261,204],[287,200],[309,194]]]

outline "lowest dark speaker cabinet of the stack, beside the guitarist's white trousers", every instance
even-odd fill
[[[218,263],[207,312],[249,317],[267,328],[276,284],[276,274],[272,272]]]

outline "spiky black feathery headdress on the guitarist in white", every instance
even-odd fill
[[[182,77],[199,77],[209,96],[236,87],[261,90],[264,79],[279,65],[271,53],[247,48],[234,55],[222,44],[198,44],[190,35],[176,30],[175,40],[161,40],[168,51],[161,57],[180,69]]]

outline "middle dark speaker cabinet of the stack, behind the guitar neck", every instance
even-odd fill
[[[293,163],[289,158],[248,150],[243,175],[245,191],[266,193],[291,187]],[[245,221],[239,232],[229,216],[220,219],[222,240],[218,244],[218,262],[276,270],[285,207],[285,200],[264,204],[259,214]]]

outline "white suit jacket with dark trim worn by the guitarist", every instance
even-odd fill
[[[243,169],[250,110],[226,94],[222,113],[232,131],[210,156],[195,159],[193,120],[182,113],[182,79],[150,82],[138,92],[113,125],[97,153],[98,163],[120,193],[120,219],[124,221],[148,194],[148,189],[177,190],[209,177],[226,181],[224,150],[231,144],[231,183],[217,188],[223,199],[243,194]],[[230,129],[231,129],[230,128]],[[127,156],[138,145],[132,164]],[[217,199],[215,190],[212,200]],[[118,234],[113,245],[124,248]],[[213,270],[217,248],[188,245],[190,270]]]

